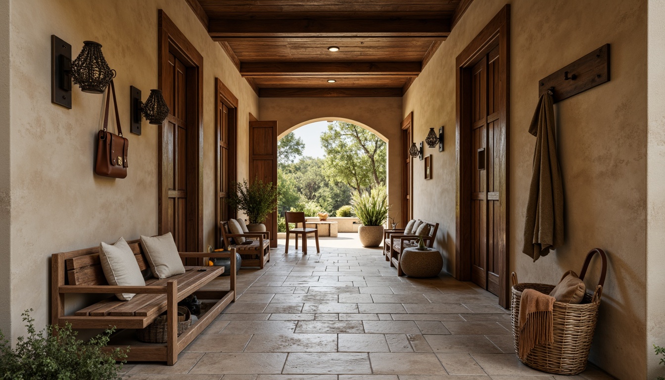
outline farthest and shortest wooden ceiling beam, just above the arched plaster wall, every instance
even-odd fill
[[[260,98],[399,98],[402,88],[384,89],[259,89]]]

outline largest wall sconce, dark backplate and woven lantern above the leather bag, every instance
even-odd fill
[[[72,80],[81,91],[103,94],[116,72],[108,67],[102,45],[84,41],[83,49],[72,61],[72,45],[51,35],[51,101],[72,108]]]

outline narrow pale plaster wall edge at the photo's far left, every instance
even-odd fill
[[[11,241],[9,167],[9,0],[0,0],[0,331],[11,333],[9,242]]]

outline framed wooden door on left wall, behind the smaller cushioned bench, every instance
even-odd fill
[[[229,207],[231,182],[236,181],[237,174],[237,107],[238,98],[217,78],[215,80],[217,114],[215,114],[215,132],[217,151],[215,160],[215,244],[221,248],[221,226],[219,222],[227,222],[237,217],[235,208]]]

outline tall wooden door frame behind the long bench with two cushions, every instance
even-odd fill
[[[186,247],[190,252],[203,251],[203,56],[188,41],[176,24],[160,9],[158,11],[158,88],[164,91],[168,57],[174,54],[187,67],[187,224]],[[166,121],[158,132],[158,234],[166,231],[168,220],[168,182],[164,173],[168,163],[164,154],[168,146],[164,138]],[[193,191],[191,191],[193,190]]]

